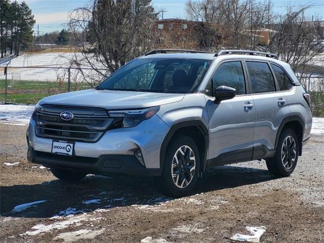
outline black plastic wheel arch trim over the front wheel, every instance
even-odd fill
[[[199,129],[199,131],[201,132],[201,134],[204,135],[205,138],[205,151],[204,151],[204,157],[200,158],[204,159],[204,165],[203,168],[200,168],[201,171],[204,171],[206,166],[207,166],[207,154],[208,154],[208,148],[209,148],[209,133],[208,133],[208,129],[205,126],[203,119],[197,117],[197,118],[193,118],[190,120],[183,120],[183,121],[179,121],[178,123],[175,123],[174,125],[172,125],[172,127],[170,128],[167,136],[165,137],[162,145],[161,145],[161,149],[160,149],[160,168],[163,169],[164,166],[164,160],[165,160],[165,156],[166,156],[166,151],[167,151],[167,146],[172,138],[172,136],[177,132],[178,129],[181,128],[185,128],[185,127],[196,127]]]

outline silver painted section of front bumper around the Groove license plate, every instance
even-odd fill
[[[46,152],[54,156],[51,153],[53,140],[37,137],[35,129],[35,120],[31,119],[27,131],[28,146],[36,152]],[[154,115],[136,127],[109,130],[95,143],[75,141],[73,154],[76,157],[99,161],[103,155],[134,156],[134,152],[141,149],[145,163],[144,169],[159,169],[160,148],[169,129],[163,120]],[[38,164],[42,164],[39,163],[40,159],[42,158],[37,160]],[[142,166],[138,160],[136,163]]]

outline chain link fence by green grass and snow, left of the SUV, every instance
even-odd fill
[[[91,89],[106,75],[106,69],[0,67],[0,103],[35,104],[46,96]]]

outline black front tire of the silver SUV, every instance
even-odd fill
[[[190,149],[188,149],[188,147],[191,149],[191,151]],[[181,148],[183,148],[186,151],[184,155],[181,155],[180,154],[181,152],[178,151]],[[177,151],[178,151],[177,153],[178,156],[183,156],[183,157],[179,158],[179,163],[177,164],[178,166],[176,167],[176,169],[172,169],[172,164],[176,163],[174,156],[176,156]],[[191,158],[193,157],[192,155],[194,155],[194,159],[190,159],[189,158],[190,155]],[[185,158],[184,156],[188,156],[188,158]],[[192,170],[193,173],[190,173],[190,170],[193,168],[193,161],[194,161],[195,168],[194,170]],[[180,164],[182,165],[182,168],[180,168],[179,166]],[[195,142],[188,136],[180,135],[176,137],[168,145],[168,149],[164,161],[163,173],[161,176],[153,178],[154,184],[163,194],[169,196],[180,197],[180,196],[188,195],[197,182],[198,174],[199,174],[199,166],[200,166],[199,151]],[[183,186],[185,186],[184,188],[178,187],[181,186],[179,184],[182,184],[180,182],[178,182],[178,186],[176,185],[176,182],[174,181],[172,176],[172,170],[176,170],[178,172],[178,173],[175,172],[174,175],[179,175],[180,181],[181,182],[184,181],[183,183]],[[187,179],[182,179],[184,177],[187,177],[188,180],[190,181],[187,181]],[[174,178],[176,180],[177,176]]]

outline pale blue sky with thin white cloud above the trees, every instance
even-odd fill
[[[18,1],[22,2],[22,1]],[[74,8],[82,7],[89,0],[25,0],[31,8],[36,19],[34,30],[37,30],[39,24],[39,31],[41,33],[50,32],[53,30],[61,30],[64,23],[66,23],[68,12]],[[185,18],[185,4],[187,0],[152,0],[155,10],[164,9],[168,12],[164,13],[164,18]],[[314,7],[310,8],[306,15],[319,16],[324,20],[324,1],[323,0],[272,0],[274,11],[280,13],[285,10],[288,4],[292,6],[299,6],[305,4],[312,4]],[[159,16],[161,18],[161,16]]]

